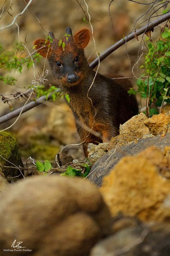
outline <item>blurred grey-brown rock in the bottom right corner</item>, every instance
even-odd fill
[[[90,256],[168,256],[170,224],[124,228],[99,241]]]

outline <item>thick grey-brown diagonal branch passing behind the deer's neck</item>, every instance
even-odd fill
[[[124,37],[123,39],[119,40],[117,43],[115,43],[114,45],[112,45],[111,47],[109,47],[106,51],[104,51],[100,57],[96,58],[93,62],[91,62],[91,64],[89,65],[90,68],[94,69],[98,63],[99,63],[99,59],[100,62],[103,61],[106,57],[108,57],[112,52],[114,52],[115,50],[117,50],[119,47],[121,47],[122,45],[124,45],[126,42],[132,40],[133,38],[135,38],[135,36],[140,36],[142,33],[151,30],[151,28],[156,27],[157,25],[161,24],[162,22],[166,21],[170,19],[170,12],[162,15],[159,19],[155,20],[154,22],[150,22],[149,24],[147,24],[146,26],[138,29],[136,32],[132,32],[131,34],[129,34],[127,37]],[[37,99],[36,102],[30,102],[27,104],[27,106],[24,107],[23,109],[23,113],[25,111],[30,110],[33,107],[36,107],[37,105],[41,104],[41,99],[46,99],[46,97],[40,97],[39,99]],[[48,97],[48,99],[50,99],[50,96]],[[14,110],[11,113],[6,114],[5,116],[0,117],[0,124],[3,124],[4,122],[10,120],[13,117],[16,117],[19,115],[21,108]]]

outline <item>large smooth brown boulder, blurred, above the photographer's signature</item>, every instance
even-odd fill
[[[85,256],[109,233],[111,217],[98,188],[80,178],[27,178],[0,199],[0,252],[16,239],[33,256]]]

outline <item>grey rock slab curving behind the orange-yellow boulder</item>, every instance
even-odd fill
[[[170,146],[170,134],[165,136],[157,135],[145,139],[139,139],[137,143],[131,142],[123,146],[117,146],[103,155],[91,168],[89,179],[96,185],[101,186],[103,177],[108,175],[115,164],[126,155],[135,155],[149,146],[156,145],[162,151],[165,146]]]

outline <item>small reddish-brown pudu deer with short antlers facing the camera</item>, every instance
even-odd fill
[[[48,58],[57,87],[59,85],[70,96],[69,105],[81,141],[84,141],[84,154],[88,157],[88,143],[106,142],[118,135],[119,125],[138,114],[138,104],[135,96],[127,93],[132,87],[127,79],[120,83],[97,74],[94,80],[95,71],[89,67],[84,54],[90,41],[89,29],[80,29],[72,36],[71,28],[67,28],[66,33],[64,48],[52,32],[49,32],[51,44],[37,39],[34,45]]]

